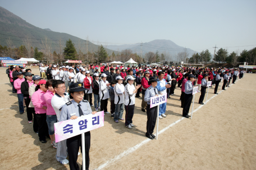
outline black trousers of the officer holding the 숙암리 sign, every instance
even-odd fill
[[[85,136],[85,169],[89,169],[90,131],[84,133],[84,136]],[[67,153],[68,153],[70,170],[79,170],[79,166],[76,161],[77,161],[77,153],[79,152],[80,147],[82,152],[81,141],[82,141],[82,135],[73,136],[72,138],[67,139]],[[82,168],[83,168],[83,163],[82,163]]]

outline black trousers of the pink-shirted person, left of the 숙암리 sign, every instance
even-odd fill
[[[38,136],[39,140],[45,140],[48,134],[48,126],[46,122],[46,114],[35,114],[36,121],[38,122]]]

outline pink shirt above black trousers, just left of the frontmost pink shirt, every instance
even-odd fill
[[[43,106],[47,106],[44,101],[44,94],[42,90],[38,89],[32,95],[31,102],[35,106],[35,114],[45,114],[46,110],[42,108]]]

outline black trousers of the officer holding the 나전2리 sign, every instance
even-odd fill
[[[151,135],[154,132],[154,127],[156,126],[157,121],[157,106],[150,108],[150,105],[147,105],[147,133],[146,135]]]

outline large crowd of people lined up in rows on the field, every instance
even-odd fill
[[[150,108],[150,98],[167,93],[167,98],[175,95],[175,88],[181,88],[182,116],[189,118],[189,108],[193,98],[193,87],[199,86],[201,92],[198,103],[204,104],[207,82],[211,81],[214,93],[223,79],[222,89],[243,78],[244,70],[230,68],[199,67],[150,67],[135,65],[81,65],[61,66],[40,63],[40,75],[31,73],[31,69],[11,66],[6,70],[12,84],[12,92],[17,93],[19,112],[24,114],[24,103],[28,123],[42,143],[51,139],[51,145],[57,149],[56,159],[62,164],[70,164],[77,169],[76,163],[81,135],[55,142],[54,123],[103,111],[113,117],[113,122],[125,121],[125,127],[135,125],[132,117],[135,112],[135,98],[141,98],[141,111],[147,110],[147,129],[145,136],[154,139],[154,127],[157,116],[166,116],[166,103]],[[110,70],[110,72],[109,72]],[[211,87],[212,87],[211,86]],[[210,88],[211,88],[210,87]],[[140,93],[142,96],[140,96]],[[92,96],[94,96],[94,101]],[[110,112],[108,112],[110,101]],[[94,110],[92,110],[94,107]],[[125,119],[123,113],[125,113]],[[138,111],[138,110],[137,110]],[[86,169],[89,168],[90,131],[85,133]],[[69,160],[67,160],[67,155]]]

